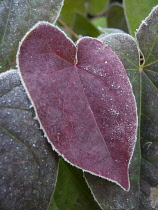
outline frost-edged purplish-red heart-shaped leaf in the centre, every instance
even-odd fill
[[[38,23],[18,52],[22,81],[53,148],[71,164],[129,189],[136,103],[125,69],[100,41],[75,46]]]

